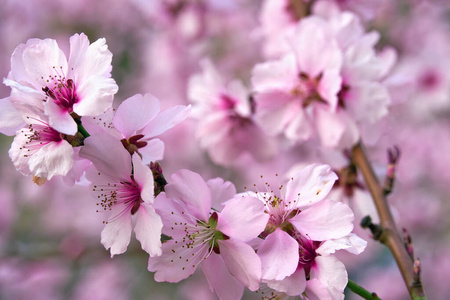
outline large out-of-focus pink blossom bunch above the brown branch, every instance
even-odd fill
[[[314,15],[285,38],[284,56],[253,69],[255,119],[267,133],[292,141],[317,135],[327,148],[353,146],[390,104],[382,81],[396,54],[390,48],[377,53],[378,39],[355,14],[316,3]]]

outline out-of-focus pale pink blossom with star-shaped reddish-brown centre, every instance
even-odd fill
[[[271,135],[293,141],[313,136],[316,125],[330,125],[322,112],[335,112],[342,79],[342,53],[325,21],[303,19],[282,58],[253,69],[258,124]]]

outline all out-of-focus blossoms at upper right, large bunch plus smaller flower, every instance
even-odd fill
[[[395,51],[376,51],[379,34],[366,33],[357,15],[333,3],[317,2],[313,15],[301,19],[289,3],[265,2],[267,61],[254,66],[251,93],[239,80],[225,84],[209,61],[191,77],[197,138],[217,164],[230,165],[243,153],[267,160],[277,153],[279,135],[350,149],[387,115],[384,80]]]

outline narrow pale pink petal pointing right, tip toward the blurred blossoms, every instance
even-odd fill
[[[166,130],[174,127],[178,123],[184,121],[191,112],[191,106],[178,105],[169,108],[159,113],[153,120],[151,120],[145,129],[143,134],[146,138],[160,135]]]

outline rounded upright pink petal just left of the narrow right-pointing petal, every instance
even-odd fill
[[[123,101],[117,108],[113,125],[125,138],[143,129],[160,110],[159,100],[150,94],[137,94]]]

